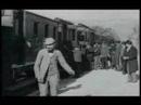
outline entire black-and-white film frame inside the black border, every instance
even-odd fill
[[[140,10],[1,10],[2,96],[140,96]]]

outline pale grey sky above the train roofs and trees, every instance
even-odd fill
[[[139,26],[139,10],[26,10],[49,18],[61,17],[74,24],[112,27],[126,40],[132,27]]]

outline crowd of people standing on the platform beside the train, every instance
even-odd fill
[[[74,50],[76,77],[82,70],[115,69],[128,74],[129,82],[137,82],[138,50],[130,40],[78,45]]]

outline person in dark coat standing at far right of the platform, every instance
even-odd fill
[[[138,76],[136,71],[138,70],[138,51],[130,40],[126,41],[126,47],[127,49],[123,58],[127,62],[128,82],[137,82]]]

